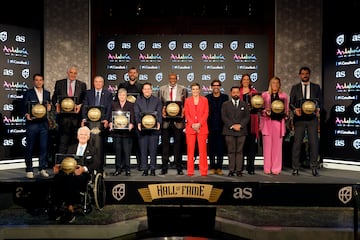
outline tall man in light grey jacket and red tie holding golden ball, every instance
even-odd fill
[[[167,174],[170,156],[170,138],[174,138],[174,163],[179,175],[183,175],[181,146],[183,146],[184,125],[184,101],[188,93],[183,85],[177,84],[177,75],[169,74],[169,84],[160,87],[158,96],[163,104],[162,117],[163,124],[161,129],[162,143],[162,167],[161,175]],[[177,116],[169,116],[166,112],[167,103],[176,102],[180,105],[180,112]]]

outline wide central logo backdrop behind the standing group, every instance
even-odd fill
[[[96,71],[110,91],[128,81],[130,67],[139,70],[139,82],[153,84],[153,94],[168,83],[168,74],[188,87],[197,82],[202,94],[219,79],[222,92],[239,85],[248,73],[259,90],[267,89],[269,42],[265,35],[116,35],[97,39]]]

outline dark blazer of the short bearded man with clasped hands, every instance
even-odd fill
[[[223,103],[221,118],[224,122],[222,134],[225,136],[246,136],[248,134],[247,124],[250,120],[250,110],[246,102],[239,99],[239,106],[236,108],[232,99]],[[240,131],[230,129],[232,125],[241,125]]]

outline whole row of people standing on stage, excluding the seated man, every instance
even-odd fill
[[[168,173],[171,155],[177,174],[184,174],[184,138],[188,176],[194,175],[196,150],[201,176],[223,175],[225,152],[229,160],[229,176],[242,176],[245,170],[244,158],[247,173],[255,174],[254,160],[260,136],[263,143],[263,171],[265,174],[278,175],[282,170],[286,121],[293,116],[291,120],[295,135],[292,174],[299,175],[302,144],[306,134],[312,174],[319,175],[318,118],[322,108],[322,93],[318,84],[310,82],[311,71],[308,67],[300,68],[301,82],[293,85],[289,96],[281,90],[280,78],[272,77],[268,90],[260,93],[252,85],[248,74],[243,74],[240,86],[231,87],[229,94],[220,91],[221,81],[213,80],[210,94],[202,96],[200,85],[192,83],[191,96],[188,96],[186,87],[178,84],[178,77],[174,73],[169,74],[168,83],[161,86],[155,96],[152,84],[139,83],[138,71],[132,67],[128,70],[128,81],[119,84],[117,95],[113,99],[112,93],[104,89],[103,77],[96,76],[93,88],[87,90],[86,84],[77,80],[77,73],[77,68],[72,66],[67,70],[67,78],[56,81],[52,99],[50,92],[44,89],[43,76],[35,74],[34,87],[24,95],[24,115],[27,120],[25,163],[28,178],[34,177],[32,156],[36,141],[39,141],[40,146],[39,174],[49,176],[46,171],[48,119],[47,115],[39,117],[34,113],[36,104],[43,105],[46,112],[52,106],[55,108],[58,153],[77,155],[79,149],[74,146],[78,146],[79,127],[86,126],[90,130],[89,145],[96,148],[94,159],[98,161],[98,171],[103,171],[105,162],[105,136],[112,136],[115,151],[114,176],[122,173],[131,175],[130,156],[133,150],[136,152],[138,170],[143,171],[142,175],[154,176],[160,136],[161,175]],[[253,104],[255,96],[261,96],[261,106]],[[66,109],[69,103],[63,102],[65,98],[72,100],[70,111]],[[316,104],[311,113],[302,109],[306,100],[314,100]],[[97,106],[101,116],[93,120],[89,117],[89,111]],[[126,116],[119,118],[125,121],[125,127],[119,127],[114,112],[123,114],[119,117]]]

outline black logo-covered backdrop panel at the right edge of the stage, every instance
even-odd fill
[[[360,165],[360,31],[324,41],[324,162]]]

